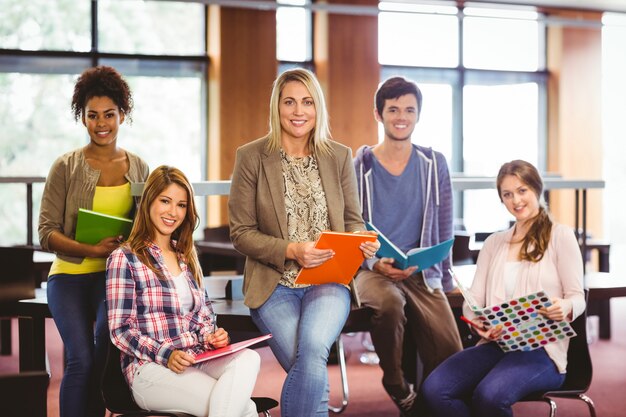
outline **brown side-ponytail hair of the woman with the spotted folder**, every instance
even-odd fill
[[[548,244],[550,243],[550,234],[552,233],[553,224],[550,213],[548,213],[548,209],[541,199],[543,193],[541,175],[539,175],[537,168],[521,159],[502,165],[496,181],[500,201],[502,201],[502,181],[508,175],[513,175],[526,184],[539,200],[539,213],[532,219],[528,233],[526,233],[522,241],[520,253],[520,257],[524,261],[539,262],[543,258]]]

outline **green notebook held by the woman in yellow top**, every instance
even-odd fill
[[[95,245],[105,237],[123,235],[127,238],[132,227],[133,221],[130,219],[79,208],[76,240]]]

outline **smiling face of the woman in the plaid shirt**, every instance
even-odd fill
[[[168,242],[187,214],[187,191],[178,184],[170,184],[150,205],[150,221],[154,225],[155,240]]]

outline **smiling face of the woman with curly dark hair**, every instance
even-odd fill
[[[85,105],[83,124],[91,143],[97,146],[115,144],[124,113],[109,97],[92,97]]]

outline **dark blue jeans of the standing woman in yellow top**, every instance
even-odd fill
[[[100,376],[109,343],[105,273],[52,275],[47,288],[48,306],[65,345],[61,417],[102,417]]]

